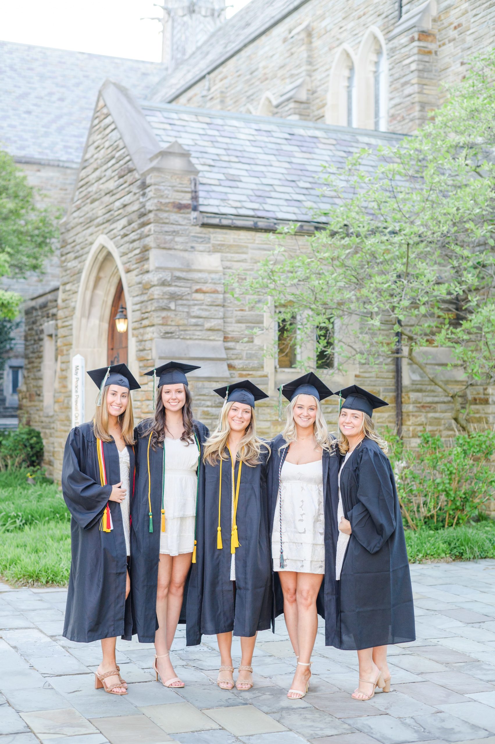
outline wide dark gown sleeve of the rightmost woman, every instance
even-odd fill
[[[357,504],[348,511],[352,534],[369,553],[377,553],[395,530],[394,490],[386,461],[363,450]]]

